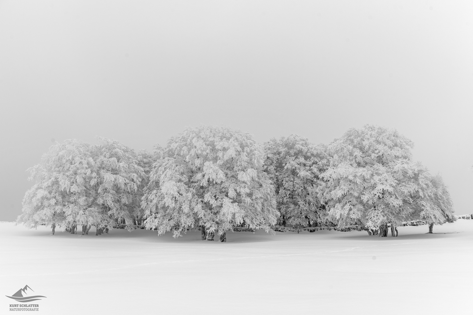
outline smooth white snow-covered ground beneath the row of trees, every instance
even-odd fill
[[[398,230],[230,232],[220,243],[2,222],[0,293],[28,285],[47,297],[31,302],[42,314],[473,314],[473,220]],[[17,303],[2,301],[1,314]]]

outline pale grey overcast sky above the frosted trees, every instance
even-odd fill
[[[473,213],[473,1],[2,1],[0,221],[51,139],[148,149],[186,126],[414,141]]]

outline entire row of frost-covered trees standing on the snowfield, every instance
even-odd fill
[[[439,175],[412,161],[394,129],[350,128],[329,145],[297,135],[258,144],[224,127],[186,128],[153,153],[115,140],[54,144],[30,168],[35,182],[17,222],[100,235],[141,225],[174,237],[200,229],[226,242],[236,227],[326,226],[392,236],[405,221],[455,221]]]

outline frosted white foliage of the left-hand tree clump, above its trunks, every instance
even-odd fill
[[[147,178],[140,163],[151,164],[149,153],[137,155],[115,140],[56,143],[29,169],[35,184],[26,192],[17,221],[31,227],[111,227],[123,219],[131,223],[130,213],[140,208],[141,181]]]

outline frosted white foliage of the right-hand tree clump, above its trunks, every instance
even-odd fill
[[[318,189],[328,219],[370,229],[413,219],[450,220],[452,203],[443,181],[412,162],[411,148],[397,131],[371,125],[334,140],[328,146],[333,158]]]

